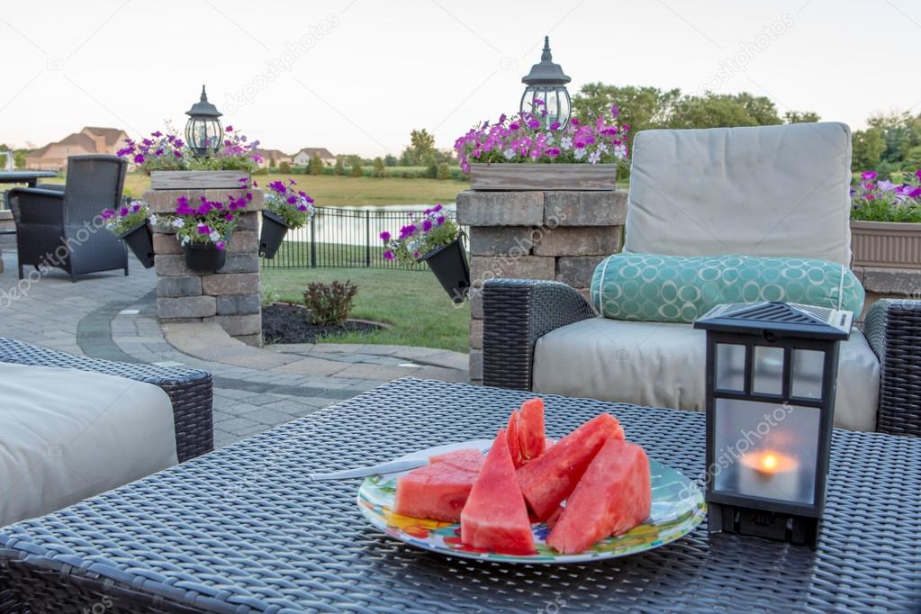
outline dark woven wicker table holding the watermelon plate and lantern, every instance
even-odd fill
[[[818,548],[705,525],[590,564],[449,558],[390,539],[357,480],[313,471],[489,437],[527,393],[400,379],[51,516],[0,528],[0,583],[31,612],[915,610],[921,440],[835,431]],[[546,396],[559,436],[600,411],[686,476],[704,416]],[[87,608],[83,610],[82,608]]]

